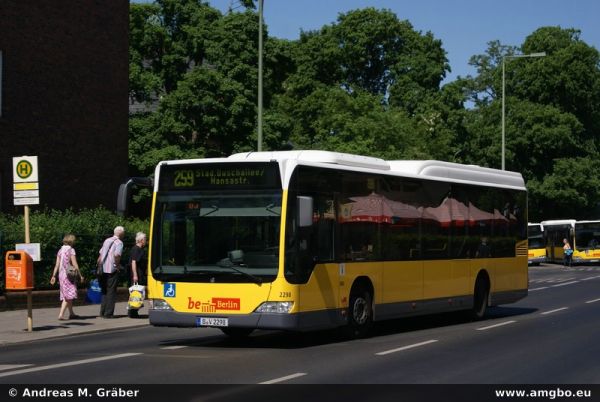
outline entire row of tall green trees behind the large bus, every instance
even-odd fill
[[[255,149],[258,15],[256,2],[241,5],[225,15],[197,0],[131,5],[130,95],[156,106],[130,117],[135,175]],[[589,184],[560,175],[595,183],[600,172],[600,55],[577,29],[541,27],[520,46],[491,40],[470,59],[475,76],[443,87],[441,40],[390,10],[349,11],[296,41],[263,32],[265,149],[500,168],[504,60],[506,167],[527,182],[530,220],[567,205],[573,218],[600,213]],[[547,55],[506,59],[537,52]]]

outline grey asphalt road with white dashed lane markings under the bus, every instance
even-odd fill
[[[600,384],[600,267],[530,268],[486,319],[442,314],[372,336],[144,327],[0,349],[4,384]]]

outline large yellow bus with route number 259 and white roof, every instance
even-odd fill
[[[165,161],[155,171],[155,326],[344,327],[527,295],[519,173],[326,151]]]

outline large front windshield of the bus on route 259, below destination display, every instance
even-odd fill
[[[263,283],[277,276],[281,191],[162,193],[155,211],[155,279]]]

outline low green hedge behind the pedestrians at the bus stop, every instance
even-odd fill
[[[56,253],[62,246],[65,234],[76,236],[77,262],[86,280],[93,279],[98,251],[105,238],[112,236],[115,226],[125,227],[125,252],[123,261],[128,261],[129,249],[135,244],[137,232],[148,233],[147,221],[135,218],[123,219],[104,208],[74,212],[73,210],[33,211],[29,220],[31,243],[40,243],[42,260],[34,262],[35,288],[50,287],[50,276],[56,262]],[[25,226],[22,215],[0,214],[0,248],[2,258],[7,251],[14,250],[16,243],[25,242]],[[1,264],[0,288],[4,288],[4,261]]]

